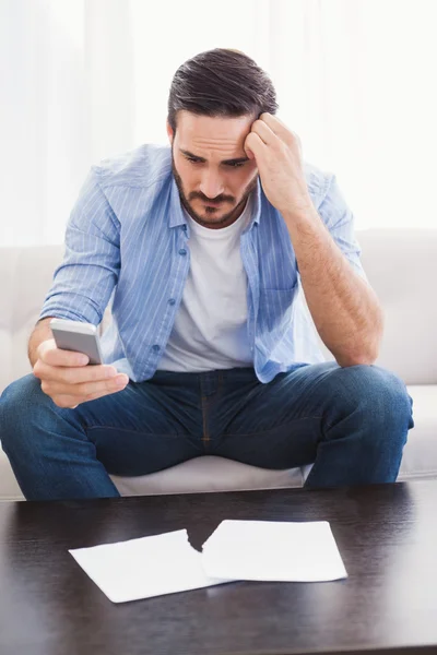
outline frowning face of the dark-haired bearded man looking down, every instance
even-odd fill
[[[256,162],[244,150],[255,119],[179,111],[176,134],[167,124],[180,201],[204,227],[218,229],[234,223],[257,184]]]

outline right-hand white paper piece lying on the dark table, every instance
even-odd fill
[[[322,582],[347,577],[327,521],[223,521],[203,545],[206,575]]]

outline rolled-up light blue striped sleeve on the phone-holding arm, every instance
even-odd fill
[[[120,271],[119,221],[92,167],[73,206],[66,230],[62,263],[43,305],[39,319],[56,317],[98,325]]]

